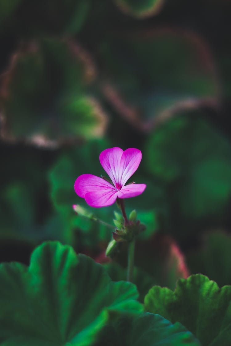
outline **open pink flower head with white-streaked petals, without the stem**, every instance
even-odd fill
[[[145,190],[146,185],[125,183],[139,167],[141,158],[139,149],[106,149],[99,155],[99,161],[114,185],[96,175],[82,174],[75,180],[74,190],[89,206],[96,208],[110,206],[117,197],[135,197]]]

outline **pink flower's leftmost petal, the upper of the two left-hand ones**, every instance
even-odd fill
[[[108,183],[106,180],[93,175],[93,174],[82,174],[74,183],[74,190],[79,197],[85,198],[86,193],[92,191],[114,191],[114,186]]]

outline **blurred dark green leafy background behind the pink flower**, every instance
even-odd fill
[[[0,0],[0,261],[60,240],[107,262],[111,230],[75,215],[73,185],[105,174],[105,148],[135,147],[139,282],[231,284],[230,14],[229,0]],[[116,206],[88,209],[112,224]]]

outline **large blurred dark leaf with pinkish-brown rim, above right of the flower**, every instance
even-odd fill
[[[211,54],[192,33],[123,32],[108,35],[97,48],[104,95],[138,130],[150,131],[179,110],[218,101]]]

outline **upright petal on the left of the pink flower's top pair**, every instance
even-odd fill
[[[119,163],[124,151],[121,148],[114,147],[105,149],[99,155],[99,161],[103,169],[107,172],[113,184],[119,183]]]

